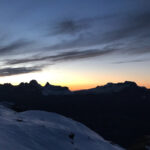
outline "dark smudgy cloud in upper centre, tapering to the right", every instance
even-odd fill
[[[91,30],[96,24],[99,24],[101,20],[107,20],[112,16],[114,15],[95,16],[82,19],[68,18],[56,22],[52,29],[50,28],[49,30],[53,30],[52,35],[74,35]]]

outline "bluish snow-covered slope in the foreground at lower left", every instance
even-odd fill
[[[0,105],[1,150],[122,150],[86,126],[55,113]]]

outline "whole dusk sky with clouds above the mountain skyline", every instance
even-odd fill
[[[150,88],[150,0],[0,0],[0,83]]]

